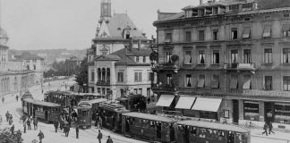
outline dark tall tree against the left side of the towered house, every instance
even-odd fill
[[[79,89],[80,92],[87,92],[88,87],[88,60],[84,58],[81,62],[80,71],[76,74],[75,81],[78,85],[82,88],[82,91]]]

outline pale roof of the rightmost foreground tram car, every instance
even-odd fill
[[[214,129],[214,130],[229,130],[229,131],[242,132],[242,133],[250,132],[250,130],[239,127],[237,125],[222,124],[218,122],[201,122],[201,121],[185,120],[185,121],[177,122],[177,124],[183,124],[183,125],[206,128],[206,129]]]

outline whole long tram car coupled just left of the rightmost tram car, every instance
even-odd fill
[[[151,142],[169,143],[175,141],[175,122],[174,119],[155,114],[127,113],[122,117],[122,133]]]

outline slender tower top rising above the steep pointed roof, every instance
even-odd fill
[[[101,1],[101,13],[100,13],[100,19],[99,23],[101,24],[102,21],[108,21],[112,15],[111,15],[111,0],[102,0]]]

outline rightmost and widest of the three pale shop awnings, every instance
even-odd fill
[[[221,98],[205,98],[197,97],[192,110],[218,112],[218,107],[221,103]]]

